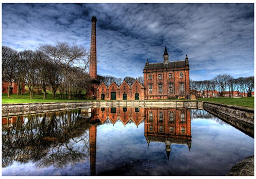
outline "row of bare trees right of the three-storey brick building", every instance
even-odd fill
[[[219,91],[222,92],[222,97],[224,97],[224,92],[228,90],[230,92],[230,96],[233,96],[234,91],[247,93],[247,96],[251,96],[251,91],[254,89],[254,76],[249,77],[240,77],[233,78],[233,76],[228,74],[217,75],[211,80],[204,81],[189,81],[190,89],[195,89],[196,91],[201,91],[204,96],[205,91]],[[240,94],[239,94],[240,96]]]

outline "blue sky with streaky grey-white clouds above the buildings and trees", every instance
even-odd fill
[[[2,45],[18,51],[56,41],[90,49],[97,17],[97,72],[143,76],[146,59],[189,57],[190,78],[254,75],[254,4],[2,4]]]

